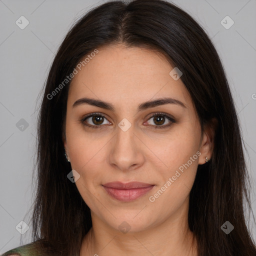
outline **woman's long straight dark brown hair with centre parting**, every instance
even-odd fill
[[[215,117],[214,149],[199,165],[190,192],[188,224],[198,241],[199,256],[254,256],[246,226],[249,179],[239,123],[218,54],[204,30],[186,12],[163,0],[110,1],[91,9],[68,31],[52,62],[38,117],[37,191],[33,240],[54,255],[78,256],[91,228],[90,209],[67,173],[62,134],[67,82],[52,95],[73,68],[95,48],[125,44],[163,53],[183,73],[180,77],[195,105],[203,130]],[[48,96],[47,96],[48,95]],[[226,234],[221,225],[234,229]]]

